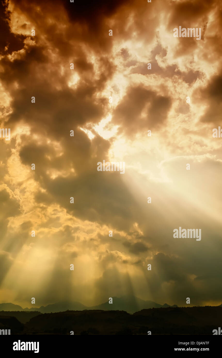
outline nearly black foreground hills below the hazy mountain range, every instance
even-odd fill
[[[152,308],[126,311],[57,313],[0,311],[0,329],[12,334],[213,334],[222,327],[222,307]]]

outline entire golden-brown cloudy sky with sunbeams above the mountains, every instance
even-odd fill
[[[3,1],[0,29],[0,302],[221,304],[219,1]]]

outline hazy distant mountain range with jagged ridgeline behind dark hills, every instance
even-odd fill
[[[113,297],[113,303],[109,304],[109,302],[102,303],[96,306],[84,306],[79,302],[69,302],[63,301],[54,304],[50,304],[47,306],[41,307],[32,307],[32,308],[22,308],[19,305],[14,305],[13,303],[1,303],[0,311],[39,311],[41,313],[51,313],[51,312],[62,312],[67,310],[120,310],[127,311],[128,313],[134,313],[140,311],[142,309],[148,308],[161,308],[161,307],[177,307],[177,305],[160,305],[153,301],[145,301],[135,296],[122,296],[122,297]]]

